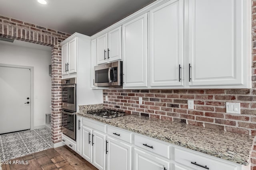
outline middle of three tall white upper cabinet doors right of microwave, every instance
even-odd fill
[[[182,86],[183,0],[150,11],[150,86]]]

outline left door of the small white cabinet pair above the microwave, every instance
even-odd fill
[[[97,38],[97,64],[107,63],[108,33]]]

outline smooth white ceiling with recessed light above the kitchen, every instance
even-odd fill
[[[0,16],[65,33],[88,36],[125,18],[155,0],[0,0]]]

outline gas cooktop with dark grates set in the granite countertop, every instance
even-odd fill
[[[97,116],[97,117],[102,117],[105,119],[113,119],[116,117],[123,117],[123,116],[129,115],[123,111],[116,111],[116,110],[110,110],[110,109],[91,110],[91,111],[87,111],[87,114]]]

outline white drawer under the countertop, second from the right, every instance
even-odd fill
[[[134,135],[134,145],[170,159],[170,145],[139,135]]]

